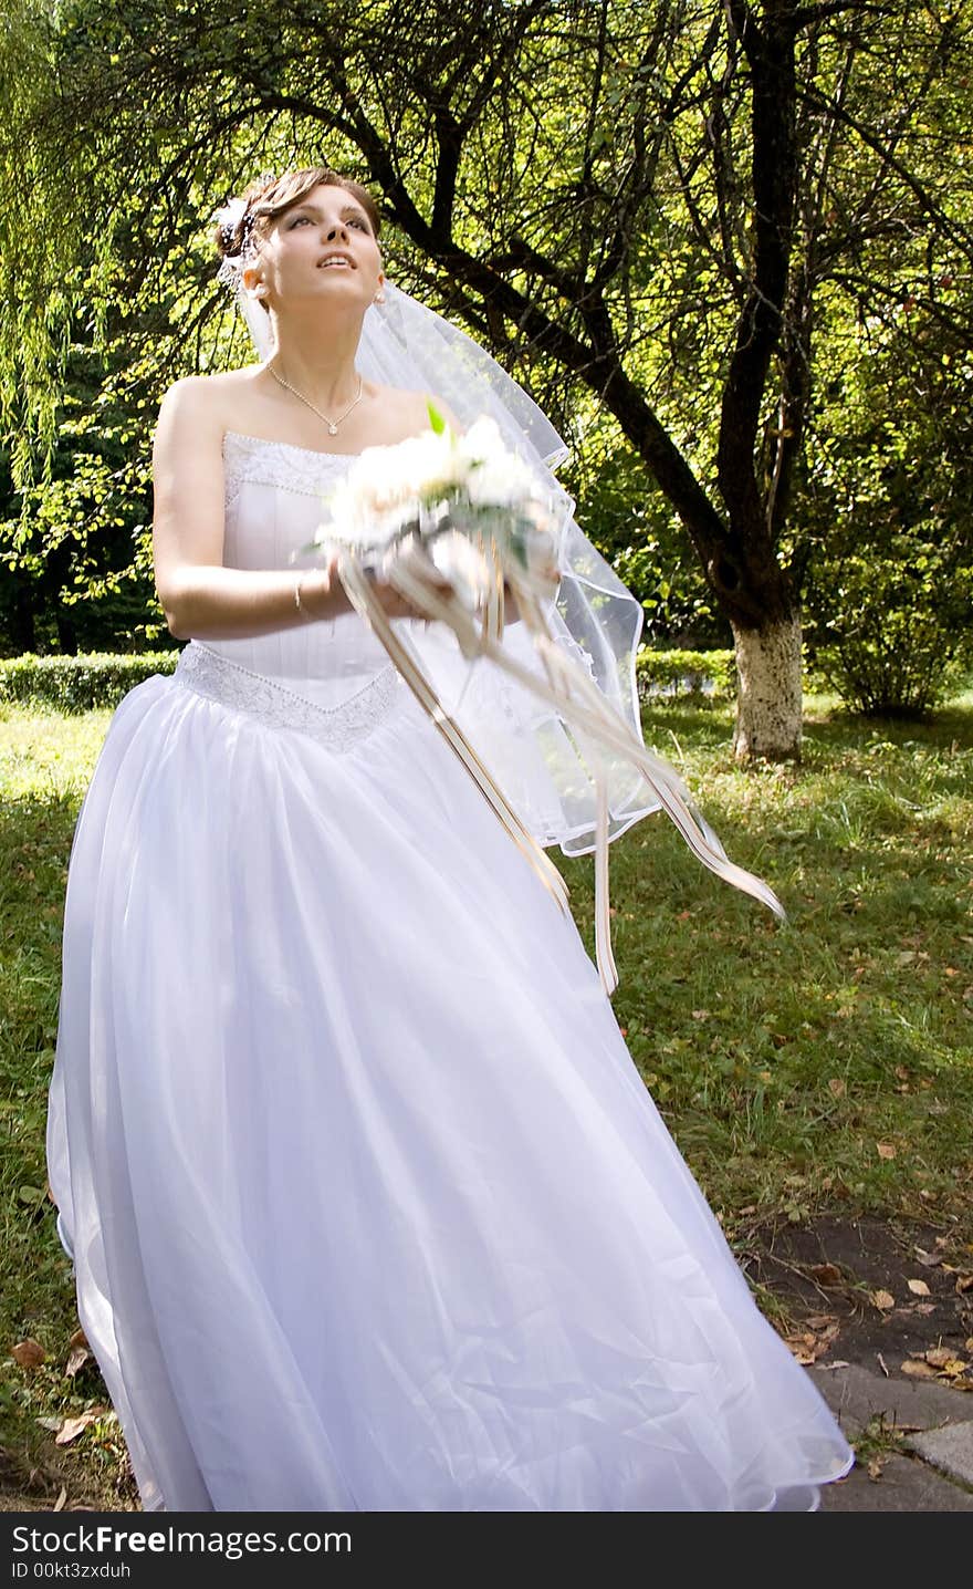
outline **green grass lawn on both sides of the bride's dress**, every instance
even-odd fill
[[[67,861],[110,718],[0,710],[0,1360],[22,1336],[48,1352],[32,1371],[0,1362],[0,1440],[25,1452],[49,1443],[38,1417],[105,1400],[90,1365],[63,1374],[75,1292],[44,1120]],[[797,769],[740,771],[713,709],[646,710],[646,737],[789,912],[721,883],[660,814],[611,849],[614,1009],[727,1230],[763,1212],[968,1216],[973,696],[902,728],[811,698]],[[590,858],[556,858],[590,945]],[[117,1429],[92,1425],[63,1460],[119,1505]]]

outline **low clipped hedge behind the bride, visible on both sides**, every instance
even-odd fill
[[[129,690],[152,674],[171,674],[178,650],[113,656],[0,658],[0,702],[51,706],[59,712],[114,709]],[[651,651],[635,658],[638,694],[643,701],[730,701],[736,691],[732,651]]]

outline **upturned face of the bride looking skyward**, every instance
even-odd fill
[[[281,310],[313,302],[363,310],[384,281],[378,238],[346,188],[322,184],[286,210],[265,238],[248,288],[263,286],[263,303]]]

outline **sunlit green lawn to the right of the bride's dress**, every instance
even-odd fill
[[[727,1224],[968,1208],[973,698],[921,728],[813,698],[798,769],[743,772],[727,726],[670,709],[648,739],[789,920],[660,815],[613,845],[613,1003],[641,1074]],[[567,876],[590,941],[586,863]]]

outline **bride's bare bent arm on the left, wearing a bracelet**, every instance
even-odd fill
[[[170,632],[179,640],[244,639],[335,618],[351,610],[330,569],[225,569],[221,405],[206,377],[170,386],[159,410],[152,453],[156,590]]]

